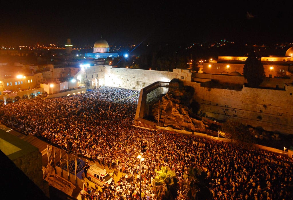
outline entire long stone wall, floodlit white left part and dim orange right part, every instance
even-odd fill
[[[195,89],[194,99],[200,104],[198,114],[222,121],[236,118],[243,124],[262,127],[267,131],[293,134],[293,84],[286,83],[285,90],[256,89],[244,87],[241,90],[201,87],[198,79],[191,81],[192,74],[186,69],[173,72],[125,69],[106,66],[105,86],[140,90],[154,82],[169,82],[180,79],[185,86]],[[225,82],[241,83],[243,77],[222,77]],[[211,79],[211,74],[200,74],[203,81]],[[239,81],[240,80],[240,81]],[[219,80],[221,81],[221,80]]]

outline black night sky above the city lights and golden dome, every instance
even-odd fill
[[[190,2],[1,1],[0,45],[293,42],[292,1]]]

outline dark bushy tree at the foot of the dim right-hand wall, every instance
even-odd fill
[[[221,135],[243,147],[250,147],[254,141],[254,137],[248,127],[232,118],[223,123]]]

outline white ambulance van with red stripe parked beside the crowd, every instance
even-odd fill
[[[99,186],[103,186],[106,183],[110,184],[112,182],[112,177],[106,172],[106,170],[102,170],[100,167],[97,167],[96,164],[91,165],[86,172],[86,176],[88,180],[97,183]]]

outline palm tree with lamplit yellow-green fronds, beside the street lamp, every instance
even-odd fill
[[[157,176],[154,178],[153,187],[157,199],[172,200],[177,197],[176,173],[169,167],[163,166],[160,171],[156,170]]]

